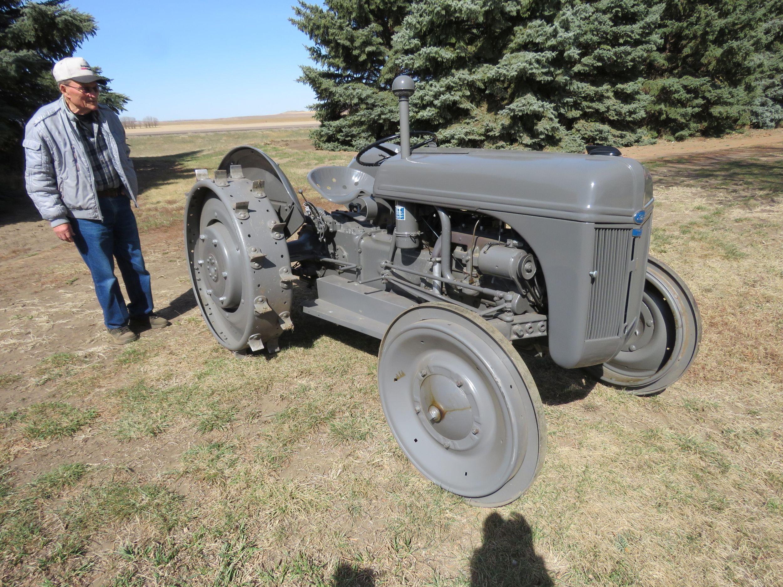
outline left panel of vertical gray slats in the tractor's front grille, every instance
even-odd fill
[[[628,299],[631,229],[596,229],[586,340],[616,337]]]

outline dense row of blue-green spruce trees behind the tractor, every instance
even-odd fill
[[[315,41],[316,146],[357,149],[397,128],[442,144],[580,151],[783,121],[783,0],[303,2]],[[381,34],[383,31],[383,34]]]

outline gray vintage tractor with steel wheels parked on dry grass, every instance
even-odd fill
[[[272,353],[294,327],[292,289],[314,283],[302,312],[381,340],[381,405],[413,465],[475,505],[500,506],[529,487],[546,450],[519,351],[655,394],[693,362],[698,308],[648,256],[652,181],[637,161],[599,146],[439,148],[409,128],[413,80],[392,90],[399,135],[308,175],[343,210],[300,203],[250,146],[214,178],[197,170],[185,215],[193,292],[220,344]]]

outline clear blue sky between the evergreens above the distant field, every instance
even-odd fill
[[[315,101],[298,83],[309,38],[294,0],[70,0],[98,34],[75,53],[127,94],[128,116],[161,121],[276,114]]]

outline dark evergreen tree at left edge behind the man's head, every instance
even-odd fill
[[[52,66],[96,34],[92,16],[66,0],[0,0],[0,157],[18,163],[24,124],[60,94]],[[97,70],[97,68],[96,68]],[[97,70],[99,73],[99,70]],[[124,110],[128,97],[110,91],[101,100]]]

